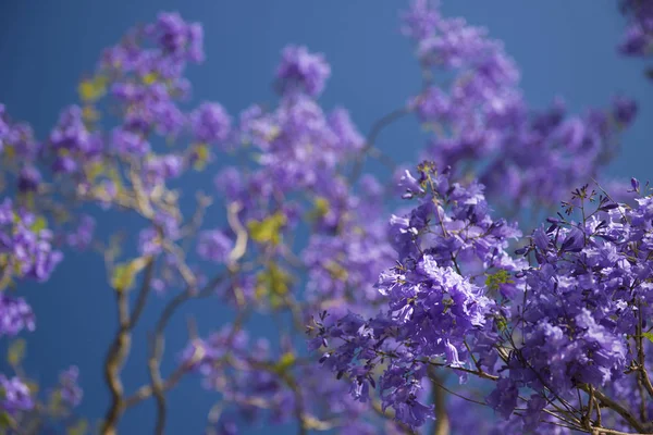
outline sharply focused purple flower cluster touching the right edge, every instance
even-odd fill
[[[640,189],[634,179],[632,189]],[[535,265],[526,271],[526,297],[515,326],[504,332],[513,351],[490,397],[506,417],[517,406],[519,387],[556,398],[616,382],[625,388],[621,378],[631,361],[637,361],[631,369],[639,369],[629,377],[648,376],[641,370],[648,364],[642,334],[652,314],[652,204],[650,195],[632,208],[615,203],[586,186],[567,204],[568,213],[579,210],[580,222],[562,214],[550,219],[519,250]],[[518,341],[512,338],[516,331],[522,337]]]

